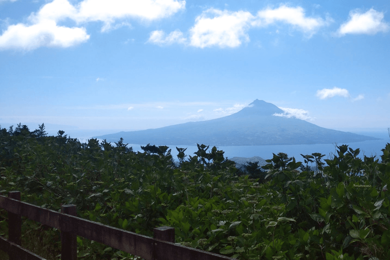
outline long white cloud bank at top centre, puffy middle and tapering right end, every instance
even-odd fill
[[[156,30],[151,32],[148,42],[157,45],[176,42],[198,48],[235,48],[243,42],[249,42],[248,30],[252,27],[266,27],[281,22],[293,25],[311,37],[320,27],[331,21],[330,18],[307,17],[302,7],[286,5],[275,9],[265,8],[258,11],[256,16],[246,11],[231,12],[210,8],[195,19],[194,25],[188,31],[188,41],[181,31],[174,31],[166,36],[164,31]]]

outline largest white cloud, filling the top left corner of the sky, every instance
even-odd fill
[[[27,18],[27,23],[9,25],[0,36],[0,49],[32,50],[39,47],[70,47],[89,39],[84,27],[67,27],[59,22],[73,20],[80,24],[102,21],[102,31],[129,26],[116,20],[136,18],[155,20],[168,17],[185,8],[176,0],[84,0],[73,6],[68,0],[54,0]],[[114,24],[114,25],[113,25]]]

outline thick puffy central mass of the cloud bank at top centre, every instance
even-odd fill
[[[199,48],[218,46],[238,47],[248,42],[247,30],[253,15],[249,12],[208,9],[195,20],[189,29],[190,45]]]

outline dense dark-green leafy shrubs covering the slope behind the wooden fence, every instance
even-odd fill
[[[223,151],[198,147],[194,156],[177,148],[176,165],[166,146],[135,153],[123,140],[47,137],[43,124],[0,127],[0,193],[20,190],[22,201],[57,211],[75,204],[79,217],[148,236],[170,225],[177,243],[238,259],[390,259],[390,144],[380,164],[346,145],[303,163],[279,153],[266,172],[251,164],[251,178]],[[0,210],[5,237],[6,219]],[[25,220],[22,233],[22,246],[60,258],[58,230]],[[78,250],[79,259],[136,259],[83,238]]]

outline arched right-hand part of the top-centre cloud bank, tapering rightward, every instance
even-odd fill
[[[304,31],[309,37],[320,27],[329,24],[332,19],[307,17],[302,7],[288,7],[281,5],[278,8],[266,8],[257,12],[255,26],[266,26],[276,22],[283,22]]]

